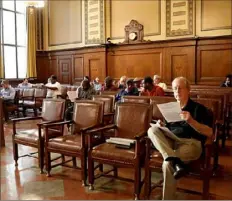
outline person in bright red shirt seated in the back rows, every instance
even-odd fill
[[[164,96],[164,90],[153,84],[151,77],[144,78],[144,89],[141,91],[141,96]]]

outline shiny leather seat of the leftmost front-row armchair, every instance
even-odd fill
[[[41,130],[41,137],[44,138],[45,131]],[[61,135],[61,132],[54,129],[48,130],[49,137],[57,137]],[[15,141],[23,141],[28,143],[37,143],[39,140],[39,131],[38,129],[30,129],[30,130],[18,130],[15,135]]]

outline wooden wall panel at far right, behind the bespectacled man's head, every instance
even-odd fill
[[[199,46],[197,55],[197,84],[216,85],[232,73],[232,42]]]

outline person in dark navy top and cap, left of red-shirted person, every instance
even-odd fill
[[[139,91],[134,86],[133,80],[127,80],[126,82],[126,88],[122,89],[117,95],[116,95],[116,101],[121,101],[122,96],[138,96]]]

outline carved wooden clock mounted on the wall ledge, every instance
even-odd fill
[[[145,41],[143,25],[138,23],[137,20],[131,20],[130,24],[125,26],[125,41],[123,44],[134,44],[134,43],[144,43],[150,42]]]

